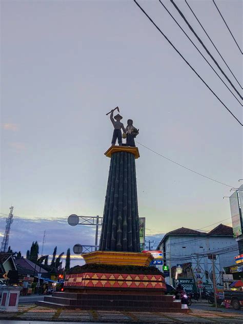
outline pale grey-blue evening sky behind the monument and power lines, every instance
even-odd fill
[[[163,3],[207,56],[173,5]],[[242,48],[242,2],[216,3]],[[242,122],[242,107],[160,3],[139,4]],[[176,4],[237,86],[186,3]],[[189,4],[242,84],[241,54],[213,2]],[[133,1],[2,0],[1,85],[0,235],[12,204],[18,218],[10,245],[19,239],[13,249],[42,242],[44,230],[46,253],[55,245],[65,252],[78,237],[90,244],[93,230],[65,219],[103,215],[110,163],[104,153],[113,132],[106,113],[116,106],[124,124],[133,119],[139,128],[137,142],[229,185],[137,144],[138,208],[148,237],[230,223],[222,197],[243,178],[242,127]]]

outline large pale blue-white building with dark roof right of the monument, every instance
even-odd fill
[[[195,283],[200,282],[200,285],[212,284],[213,262],[216,283],[222,283],[220,274],[224,272],[224,268],[234,263],[234,257],[238,253],[232,227],[223,224],[209,233],[178,228],[164,236],[157,250],[163,252],[164,264],[169,265],[170,278],[175,277],[176,265],[180,264],[182,273],[178,278],[192,278]],[[211,255],[211,259],[208,255]],[[173,283],[172,279],[168,278],[167,281]]]

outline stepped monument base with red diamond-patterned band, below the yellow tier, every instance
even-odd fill
[[[97,252],[93,255],[89,253],[88,257],[97,257],[99,253],[106,257],[109,255],[107,252]],[[142,253],[139,255],[141,259],[144,258]],[[130,271],[126,271],[128,269]],[[43,307],[82,310],[188,311],[181,308],[181,302],[175,300],[175,296],[165,295],[164,275],[149,266],[117,265],[113,262],[76,266],[66,275],[64,289],[64,292],[54,292],[52,296],[45,296],[44,301],[37,301],[36,304]]]

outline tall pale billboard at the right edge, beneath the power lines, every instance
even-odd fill
[[[236,238],[236,237],[242,235],[242,227],[241,227],[237,190],[235,190],[235,192],[230,196],[230,211],[231,211],[231,219],[232,219],[232,226],[233,226],[233,236],[234,236],[234,238]]]

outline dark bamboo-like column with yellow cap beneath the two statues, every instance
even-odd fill
[[[99,250],[140,252],[135,168],[138,149],[116,148],[111,148]]]

